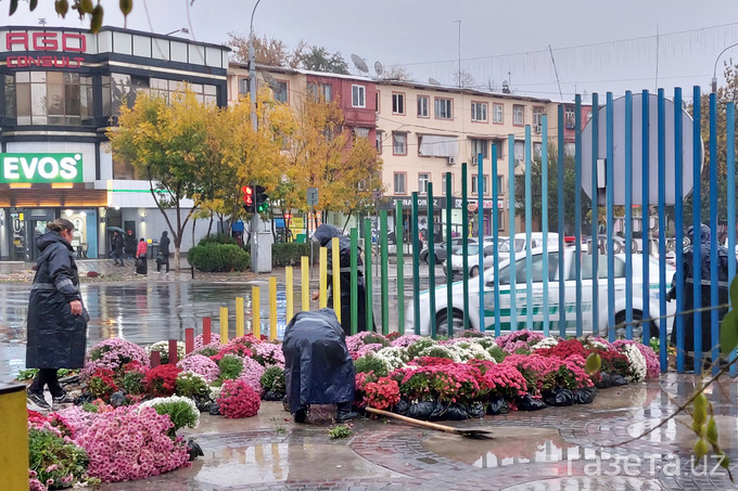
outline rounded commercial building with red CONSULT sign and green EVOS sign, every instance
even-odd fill
[[[184,87],[227,104],[229,48],[103,27],[0,27],[0,259],[35,260],[46,223],[67,218],[79,258],[107,257],[107,227],[157,237],[166,222],[105,133],[138,91]]]

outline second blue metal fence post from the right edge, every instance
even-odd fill
[[[710,94],[710,305],[720,305],[717,296],[717,94]],[[734,254],[728,258],[734,259]],[[697,282],[695,282],[697,283]],[[715,362],[720,356],[720,312],[713,309],[710,312],[710,351],[711,361]],[[712,374],[716,375],[720,366],[717,363],[712,365]]]

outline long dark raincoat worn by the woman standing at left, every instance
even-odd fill
[[[81,369],[85,364],[87,321],[73,315],[69,302],[80,300],[79,274],[72,246],[56,232],[38,237],[41,250],[28,299],[28,369]]]

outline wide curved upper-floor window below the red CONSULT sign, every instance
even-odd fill
[[[16,125],[93,125],[92,77],[62,72],[5,76],[5,117]]]

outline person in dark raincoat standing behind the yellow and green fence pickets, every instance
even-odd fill
[[[318,227],[313,234],[313,238],[320,243],[321,247],[328,249],[328,307],[333,307],[333,237],[339,237],[339,247],[341,248],[341,263],[339,264],[339,274],[341,275],[341,327],[346,336],[351,336],[351,238],[341,233],[341,231],[331,224],[323,223]],[[364,283],[364,262],[361,256],[357,257],[358,264],[358,281],[356,285],[357,293],[357,332],[367,331],[367,289]],[[316,292],[313,299],[318,298]],[[372,331],[374,330],[374,321],[372,315]]]

